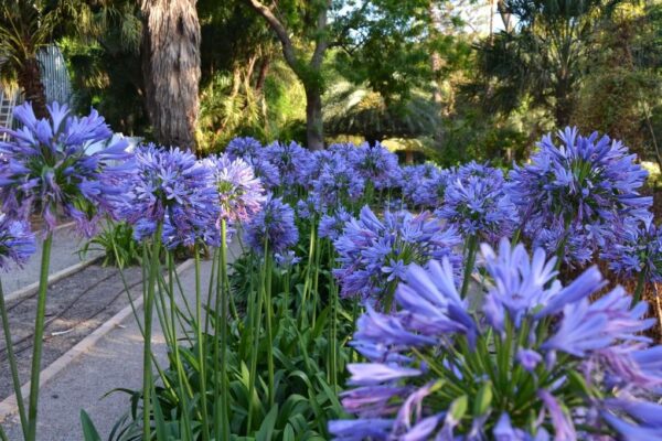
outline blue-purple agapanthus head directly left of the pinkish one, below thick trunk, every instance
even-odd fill
[[[134,225],[136,240],[150,238],[158,225],[169,247],[220,244],[217,182],[212,169],[178,148],[141,146],[122,203],[121,218]]]

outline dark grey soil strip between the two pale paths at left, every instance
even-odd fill
[[[142,293],[139,267],[124,270],[131,298]],[[129,304],[117,268],[93,265],[49,288],[42,369]],[[21,384],[30,379],[36,294],[7,304]],[[0,400],[13,394],[0,329]]]

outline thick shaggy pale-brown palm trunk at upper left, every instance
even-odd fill
[[[195,150],[200,22],[195,0],[142,0],[142,71],[154,137]]]

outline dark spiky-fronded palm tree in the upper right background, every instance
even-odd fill
[[[516,25],[477,47],[483,105],[510,112],[528,100],[548,110],[557,126],[568,125],[589,68],[586,61],[597,50],[595,36],[620,2],[503,0],[502,17]]]

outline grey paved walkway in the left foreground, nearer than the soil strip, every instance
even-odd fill
[[[236,247],[235,247],[236,248]],[[229,260],[237,251],[231,252]],[[211,262],[201,266],[202,280],[209,280]],[[181,276],[186,298],[194,298],[193,267]],[[157,325],[152,345],[157,358],[164,366],[166,343]],[[92,347],[76,358],[63,372],[57,374],[41,390],[39,408],[38,441],[78,441],[83,440],[81,430],[81,409],[90,416],[102,440],[107,440],[116,421],[129,409],[130,402],[125,394],[103,396],[114,388],[140,389],[142,386],[142,336],[132,315],[121,327],[115,327]],[[21,440],[18,417],[6,423],[11,441]]]

